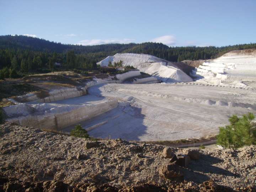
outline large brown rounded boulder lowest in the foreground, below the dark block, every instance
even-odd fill
[[[184,175],[181,167],[176,165],[175,163],[160,166],[158,172],[161,177],[164,177],[166,179],[181,177]]]

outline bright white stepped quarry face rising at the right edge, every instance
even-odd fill
[[[245,86],[243,82],[256,81],[256,49],[235,50],[206,61],[191,76],[213,84]]]

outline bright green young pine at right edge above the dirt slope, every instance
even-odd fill
[[[255,116],[252,113],[244,114],[240,118],[235,115],[230,117],[230,125],[219,127],[217,144],[235,149],[256,144],[256,127],[252,123],[253,119]]]

